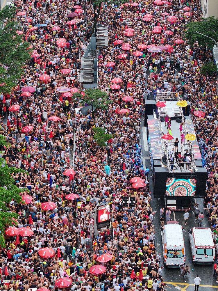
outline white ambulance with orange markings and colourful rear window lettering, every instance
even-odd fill
[[[171,268],[179,268],[185,263],[183,229],[177,221],[169,221],[162,232],[163,262]]]

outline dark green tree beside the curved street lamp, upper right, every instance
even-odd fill
[[[204,18],[201,21],[192,21],[186,25],[186,29],[185,36],[190,45],[193,45],[196,41],[200,46],[213,47],[215,45],[214,41],[198,34],[197,31],[213,38],[216,42],[218,41],[218,18],[214,16]]]

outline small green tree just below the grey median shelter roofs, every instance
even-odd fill
[[[108,100],[106,92],[102,92],[99,89],[87,89],[85,90],[85,96],[82,99],[82,104],[90,105],[92,107],[92,118],[94,119],[94,107],[101,108],[103,110],[108,109],[108,105],[112,103]]]

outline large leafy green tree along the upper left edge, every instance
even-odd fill
[[[2,14],[1,14],[2,13]],[[2,17],[11,19],[14,15],[14,9],[6,6],[0,12],[0,21]],[[0,84],[3,93],[10,93],[11,88],[16,85],[24,70],[23,66],[30,59],[27,48],[28,42],[23,42],[22,36],[17,34],[19,24],[15,21],[8,21],[0,31]]]

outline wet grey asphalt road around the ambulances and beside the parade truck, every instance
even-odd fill
[[[141,125],[144,125],[144,122],[141,122]],[[150,164],[150,156],[147,147],[147,139],[146,139],[146,128],[141,126],[141,148],[142,148],[142,160],[144,168],[146,166],[149,167],[149,188],[151,193],[153,194],[153,186],[152,186],[152,172],[151,172],[151,164]],[[160,222],[159,222],[159,212],[160,208],[164,207],[164,200],[160,198],[154,198],[152,195],[152,208],[153,211],[156,211],[154,215],[154,228],[156,234],[156,249],[161,254],[163,258],[163,249],[162,249],[162,241],[161,241],[161,231],[160,231]],[[196,202],[199,203],[199,207],[201,211],[203,210],[203,199],[196,198]],[[189,212],[189,219],[187,225],[184,226],[183,223],[183,211],[172,211],[171,212],[171,220],[178,221],[183,227],[183,236],[185,242],[185,252],[186,252],[186,264],[190,266],[190,274],[187,274],[187,278],[182,278],[180,268],[167,268],[164,267],[163,270],[163,278],[167,285],[172,290],[194,290],[194,278],[196,274],[201,278],[201,285],[199,286],[199,291],[213,291],[218,290],[218,284],[216,283],[215,278],[213,278],[213,265],[194,265],[192,263],[192,255],[190,250],[190,244],[188,239],[188,230],[190,228],[197,226],[197,223],[194,222],[194,213],[192,211]],[[208,217],[206,217],[206,212],[204,211],[205,220],[202,223],[202,226],[209,227]],[[217,260],[217,259],[216,259]],[[163,266],[163,260],[161,260],[160,265]],[[180,284],[181,283],[181,284]],[[177,286],[177,288],[175,288]],[[171,290],[167,288],[167,290]]]

